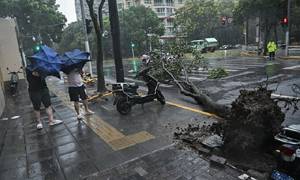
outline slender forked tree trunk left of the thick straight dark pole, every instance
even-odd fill
[[[101,9],[103,6],[105,0],[101,1]],[[89,6],[89,11],[90,11],[90,16],[93,21],[95,33],[96,33],[96,39],[97,39],[97,91],[98,92],[105,92],[105,79],[104,79],[104,73],[103,73],[103,49],[102,49],[102,33],[100,30],[100,26],[98,24],[97,20],[97,14],[94,12],[94,0],[86,0],[88,6]],[[100,8],[99,6],[99,8]]]

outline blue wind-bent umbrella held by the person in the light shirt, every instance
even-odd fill
[[[60,57],[62,61],[61,70],[69,74],[74,69],[82,69],[86,62],[89,60],[90,53],[80,51],[79,49],[74,49],[73,51],[65,52],[63,56]]]

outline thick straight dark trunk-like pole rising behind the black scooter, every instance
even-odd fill
[[[113,52],[115,59],[116,78],[117,82],[124,82],[124,70],[120,47],[120,27],[119,27],[119,16],[116,0],[108,0],[109,6],[109,21],[110,29],[113,40]]]

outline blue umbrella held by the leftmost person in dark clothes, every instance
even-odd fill
[[[58,57],[57,52],[48,46],[43,45],[38,53],[28,57],[31,61],[31,65],[28,69],[37,71],[42,77],[56,76],[60,78],[59,71],[62,62]]]

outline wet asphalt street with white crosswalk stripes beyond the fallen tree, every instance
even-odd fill
[[[125,80],[127,82],[136,82],[140,85],[142,81],[134,78],[135,71],[140,67],[140,61],[124,61]],[[297,60],[275,60],[268,61],[263,58],[238,57],[209,59],[209,67],[223,67],[229,75],[218,80],[207,79],[208,72],[195,70],[189,74],[189,78],[199,87],[209,92],[210,96],[221,104],[230,105],[238,97],[239,90],[243,88],[253,89],[269,79],[269,88],[274,90],[275,94],[295,96],[291,87],[293,84],[300,84],[300,62]],[[105,76],[108,81],[114,79],[113,65],[105,66]],[[186,105],[193,108],[199,108],[195,102],[187,97],[179,95],[176,87],[162,84],[161,86],[167,100]],[[286,112],[284,125],[300,123],[300,112],[293,114]]]

